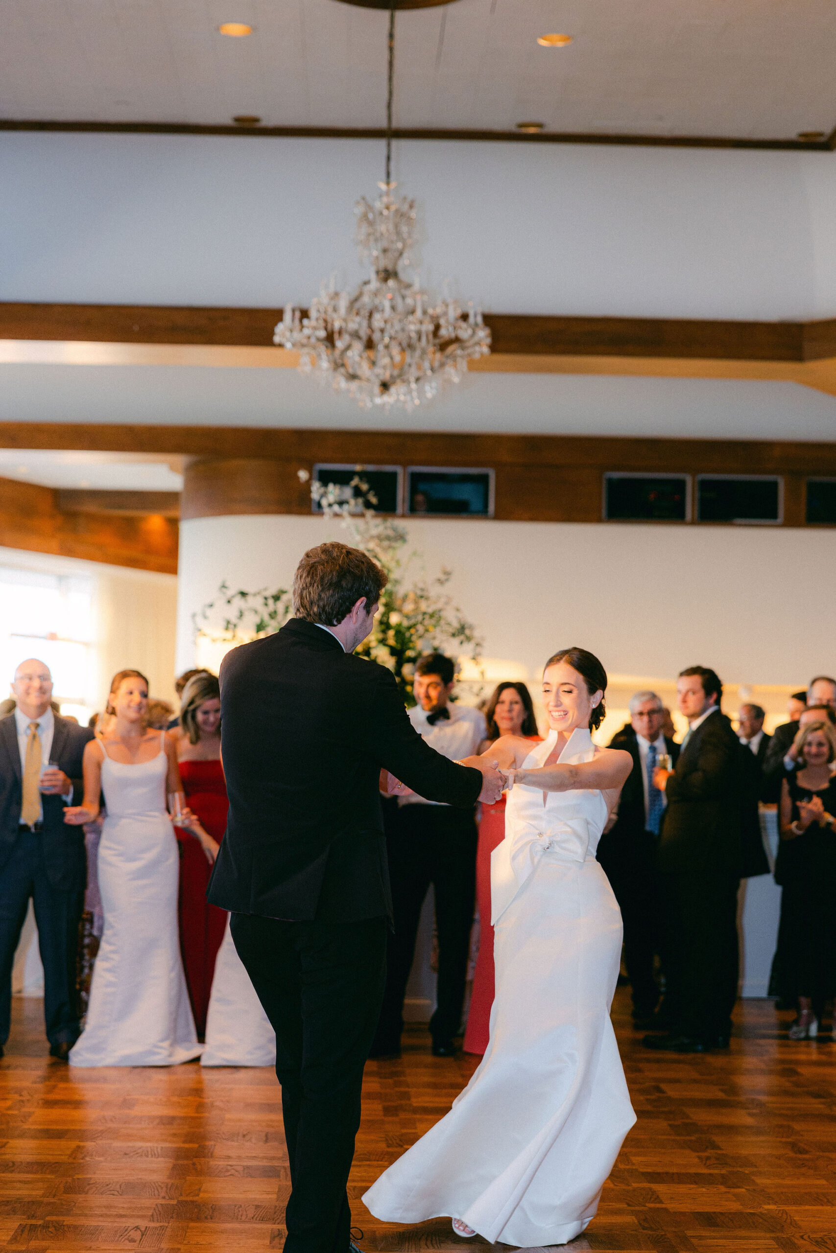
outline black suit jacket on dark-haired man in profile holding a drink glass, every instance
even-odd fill
[[[757,762],[723,713],[709,714],[682,747],[666,794],[659,870],[736,878],[767,872]]]

